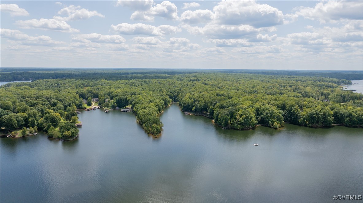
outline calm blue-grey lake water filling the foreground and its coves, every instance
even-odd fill
[[[223,130],[173,104],[155,139],[132,113],[78,116],[83,127],[73,141],[41,133],[1,139],[1,202],[333,202],[333,195],[363,195],[362,129]]]

